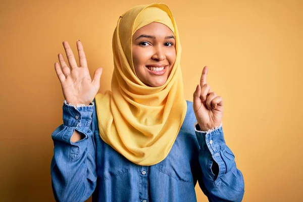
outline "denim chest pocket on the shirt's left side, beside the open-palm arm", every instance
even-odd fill
[[[112,146],[104,142],[95,132],[97,176],[108,180],[129,172],[129,160],[118,153]]]

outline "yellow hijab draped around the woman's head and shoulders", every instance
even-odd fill
[[[136,76],[132,61],[132,35],[151,22],[168,26],[176,39],[176,61],[160,87],[145,85]],[[136,6],[120,16],[113,35],[113,53],[112,92],[95,96],[99,135],[129,161],[155,165],[169,154],[187,110],[179,34],[168,6]]]

